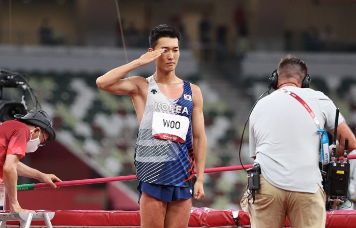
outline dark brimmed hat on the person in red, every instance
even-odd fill
[[[53,141],[55,139],[52,120],[45,111],[33,109],[26,115],[16,114],[14,117],[20,122],[41,127],[41,129],[48,133],[48,141]]]

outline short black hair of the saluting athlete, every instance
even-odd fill
[[[155,48],[158,39],[162,37],[177,38],[178,42],[181,40],[181,33],[175,27],[168,24],[160,24],[151,30],[149,42],[150,48]]]

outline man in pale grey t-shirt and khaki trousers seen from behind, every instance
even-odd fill
[[[285,90],[265,96],[251,114],[250,156],[261,169],[254,203],[247,192],[241,201],[250,215],[251,227],[281,228],[286,216],[291,227],[325,227],[318,127],[306,106],[286,91],[298,95],[311,108],[320,128],[332,134],[336,107],[322,92],[307,88],[307,73],[304,61],[290,55],[282,58],[273,87]],[[337,133],[337,139],[341,135],[340,151],[345,138],[349,139],[348,152],[356,148],[355,137],[342,115]]]

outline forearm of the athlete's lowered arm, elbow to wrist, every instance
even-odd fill
[[[194,159],[196,166],[196,177],[198,181],[203,181],[205,159],[206,159],[206,137],[202,136],[193,139]]]

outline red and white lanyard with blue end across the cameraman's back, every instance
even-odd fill
[[[294,97],[295,100],[299,101],[314,120],[316,127],[318,128],[318,133],[320,134],[320,160],[323,165],[327,165],[330,162],[329,139],[327,131],[325,131],[325,129],[321,129],[320,123],[316,118],[316,115],[314,114],[313,110],[299,95],[285,88],[280,88],[279,90],[291,95],[292,97]]]

